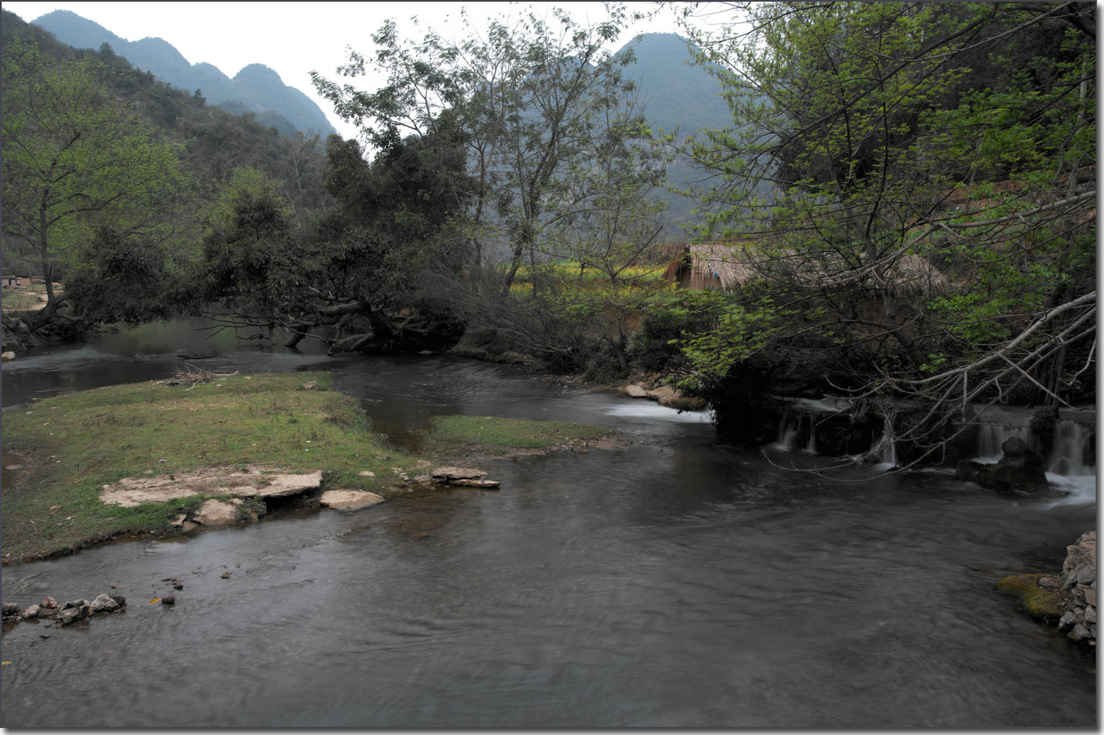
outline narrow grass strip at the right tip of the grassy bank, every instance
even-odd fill
[[[501,417],[439,416],[420,437],[431,452],[453,454],[469,451],[487,454],[511,450],[544,450],[608,437],[611,431],[585,423],[527,421]]]

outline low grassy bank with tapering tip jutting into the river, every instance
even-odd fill
[[[449,418],[421,452],[373,432],[358,402],[326,372],[170,379],[67,393],[3,413],[3,564],[47,558],[123,536],[179,534],[181,515],[215,497],[103,502],[104,485],[205,468],[321,472],[320,489],[403,491],[428,463],[548,451],[609,432],[562,422]],[[217,500],[226,500],[219,496]],[[258,515],[263,504],[245,504]]]

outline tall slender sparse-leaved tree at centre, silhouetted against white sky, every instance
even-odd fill
[[[386,78],[383,87],[363,92],[317,72],[312,78],[338,114],[361,125],[378,147],[423,135],[449,111],[465,132],[468,172],[477,182],[467,210],[473,263],[482,265],[490,248],[501,249],[509,259],[507,293],[526,256],[535,262],[548,244],[544,227],[565,213],[556,204],[590,176],[584,160],[597,130],[625,109],[631,93],[619,73],[631,54],[607,50],[627,14],[620,6],[607,10],[608,20],[590,28],[555,10],[552,23],[530,12],[492,21],[485,33],[463,14],[467,38],[459,43],[429,32],[412,45],[388,22],[373,35],[373,62],[351,52],[339,70],[357,77],[374,66]],[[624,125],[619,135],[647,141],[650,132]],[[631,141],[618,150],[630,151]]]

